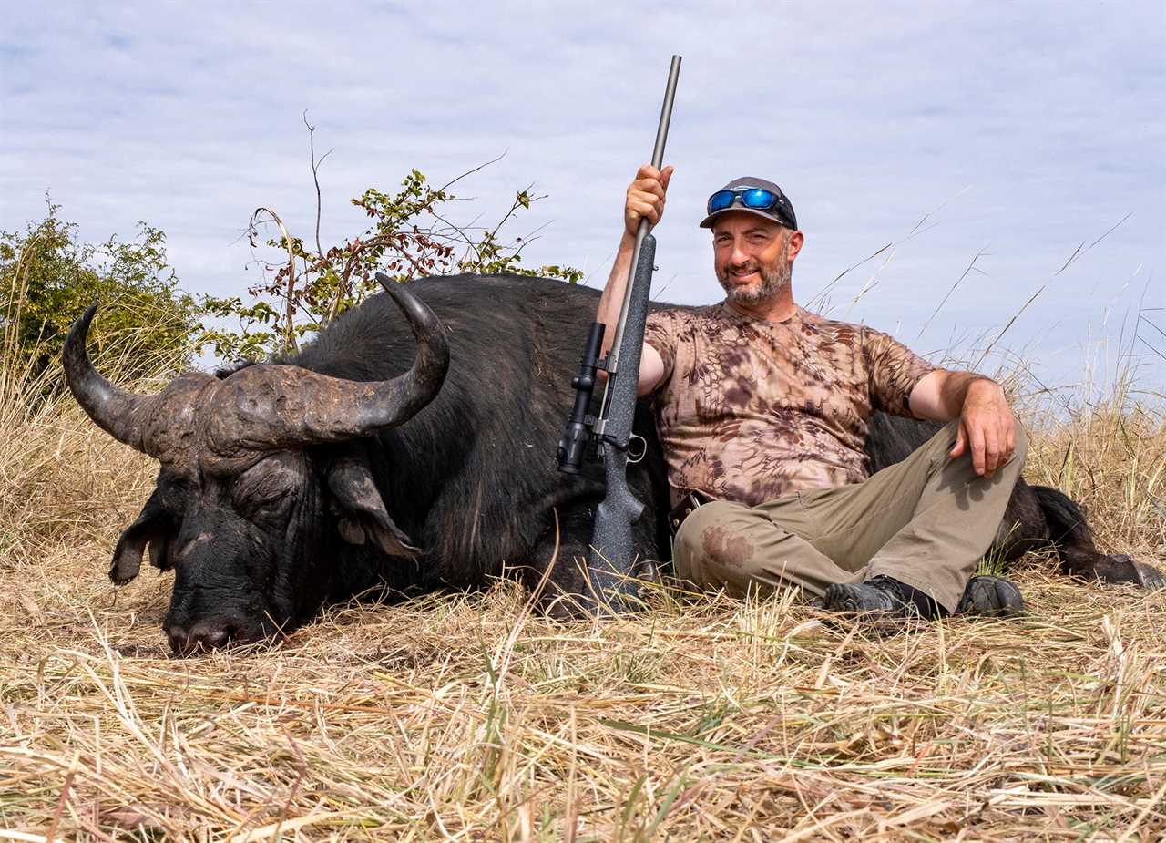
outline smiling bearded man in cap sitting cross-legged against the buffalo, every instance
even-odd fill
[[[598,319],[619,317],[635,229],[660,222],[673,168],[644,166]],[[1020,477],[1026,438],[1004,391],[936,368],[885,333],[794,303],[805,240],[766,180],[712,194],[702,227],[725,298],[648,317],[639,393],[668,463],[676,574],[732,595],[800,586],[827,610],[936,618],[1023,610],[972,577]],[[871,413],[947,422],[868,477]]]

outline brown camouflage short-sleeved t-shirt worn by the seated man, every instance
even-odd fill
[[[911,416],[935,367],[885,333],[802,308],[784,322],[725,303],[648,316],[663,359],[653,394],[674,499],[697,489],[756,506],[868,477],[874,409]]]

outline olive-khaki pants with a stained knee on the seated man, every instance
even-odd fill
[[[1012,458],[981,477],[969,452],[948,456],[957,424],[862,483],[697,507],[673,540],[677,576],[740,597],[792,585],[822,596],[831,583],[885,575],[955,611],[1000,528],[1028,444],[1018,421]]]

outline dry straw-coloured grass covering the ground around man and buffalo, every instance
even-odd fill
[[[564,625],[499,584],[175,660],[169,575],[105,578],[153,466],[71,401],[23,407],[0,402],[0,840],[1166,836],[1164,592],[1033,557],[1026,619],[878,639],[675,592]],[[1030,477],[1161,564],[1161,415],[1030,417]]]

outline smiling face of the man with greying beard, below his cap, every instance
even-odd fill
[[[774,298],[789,286],[801,233],[756,213],[730,211],[712,225],[717,280],[731,302],[752,304]]]

